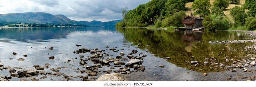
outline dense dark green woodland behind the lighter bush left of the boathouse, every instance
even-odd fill
[[[154,25],[155,21],[166,20],[167,17],[172,16],[175,12],[185,10],[185,2],[187,0],[151,0],[133,10],[128,11],[124,8],[122,9],[124,23],[119,22],[116,26],[145,27],[147,25]]]

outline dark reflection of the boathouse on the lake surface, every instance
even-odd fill
[[[185,42],[198,41],[202,39],[202,35],[202,31],[185,30],[184,35],[182,36],[182,40]]]

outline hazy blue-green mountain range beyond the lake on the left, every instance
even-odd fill
[[[10,13],[0,14],[0,24],[2,22],[21,23],[41,23],[41,24],[77,24],[85,26],[115,26],[121,20],[101,22],[101,21],[74,21],[64,15],[52,15],[44,12]]]

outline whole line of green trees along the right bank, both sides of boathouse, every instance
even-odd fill
[[[141,4],[133,10],[127,7],[122,9],[122,21],[116,24],[117,27],[156,27],[176,26],[182,27],[182,18],[186,16],[185,3],[191,2],[193,15],[201,16],[203,26],[206,30],[227,30],[245,26],[248,30],[256,30],[256,0],[245,0],[240,6],[230,9],[231,21],[223,12],[229,4],[239,4],[240,0],[151,0]]]

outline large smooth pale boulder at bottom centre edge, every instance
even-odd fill
[[[97,81],[127,81],[127,79],[121,73],[111,73],[100,76]]]

